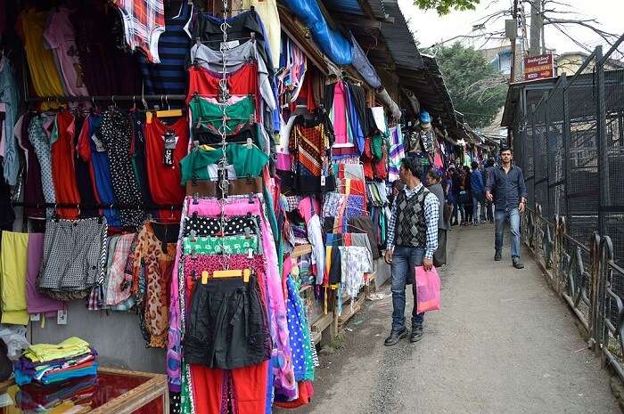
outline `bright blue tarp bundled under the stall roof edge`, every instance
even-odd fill
[[[341,32],[327,26],[316,0],[284,0],[284,3],[308,26],[316,44],[330,61],[337,65],[351,63],[351,42]]]

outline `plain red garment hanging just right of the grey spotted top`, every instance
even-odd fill
[[[56,202],[59,204],[79,204],[80,193],[76,183],[74,167],[74,134],[76,122],[68,110],[62,110],[56,116],[58,139],[52,144],[52,180]],[[78,208],[59,208],[62,218],[78,218]]]

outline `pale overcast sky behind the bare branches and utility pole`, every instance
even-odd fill
[[[556,8],[557,11],[575,12],[575,14],[546,14],[551,18],[571,19],[579,17],[595,18],[599,21],[599,27],[610,33],[624,33],[624,1],[622,0],[559,0],[560,3],[570,4],[565,7],[559,4],[548,6]],[[526,15],[530,15],[530,4],[525,2]],[[415,37],[420,42],[419,48],[434,45],[440,41],[461,35],[471,35],[472,25],[480,23],[482,19],[493,12],[507,9],[511,10],[512,0],[480,0],[480,4],[475,11],[456,12],[452,11],[447,16],[439,17],[435,11],[423,12],[415,7],[412,0],[398,0],[398,4],[409,21],[410,27],[415,31]],[[505,19],[490,20],[486,25],[487,32],[503,30]],[[530,24],[530,21],[529,21]],[[563,31],[579,43],[586,45],[593,50],[595,45],[603,45],[603,52],[609,49],[606,42],[588,28],[578,25],[563,26]],[[579,52],[583,49],[569,38],[562,31],[552,25],[546,25],[546,48],[555,49],[556,53]],[[472,40],[464,40],[468,45]],[[475,39],[474,47],[480,48],[483,40]],[[508,41],[507,41],[508,42]],[[500,41],[495,42],[500,43]],[[491,44],[491,42],[490,42]],[[508,44],[508,43],[507,43]],[[620,52],[624,52],[624,46],[620,46]],[[621,57],[621,56],[620,56]]]

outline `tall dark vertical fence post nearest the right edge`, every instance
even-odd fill
[[[598,148],[598,176],[600,182],[600,207],[598,209],[598,231],[601,236],[605,235],[604,207],[611,204],[609,191],[609,148],[607,146],[607,120],[606,106],[604,102],[604,66],[603,46],[595,48],[595,76],[596,76],[596,146]]]

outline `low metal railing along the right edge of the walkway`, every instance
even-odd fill
[[[594,232],[582,243],[568,234],[564,217],[549,222],[539,204],[522,215],[521,237],[576,314],[587,344],[624,381],[624,269],[613,261],[612,239]]]

